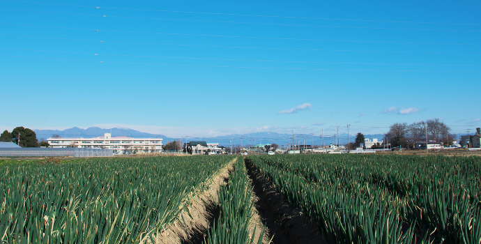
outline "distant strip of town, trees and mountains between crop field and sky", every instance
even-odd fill
[[[349,125],[348,125],[349,126]],[[74,129],[74,128],[72,128]],[[78,129],[78,128],[77,128]],[[89,128],[91,130],[95,128]],[[87,130],[89,130],[87,129]],[[429,119],[416,123],[394,123],[384,134],[341,135],[280,134],[264,132],[246,135],[227,135],[213,138],[169,138],[163,135],[151,135],[136,130],[119,131],[100,129],[103,135],[49,135],[47,139],[38,139],[36,132],[29,128],[17,127],[12,132],[3,131],[0,136],[0,156],[13,155],[14,149],[20,155],[26,153],[19,148],[40,148],[47,152],[50,149],[82,148],[84,155],[89,150],[108,151],[105,155],[135,155],[139,153],[185,153],[191,155],[221,155],[221,154],[298,154],[298,153],[376,153],[376,151],[411,151],[411,150],[455,150],[464,148],[468,151],[480,150],[480,128],[473,128],[473,135],[458,135],[439,119]],[[349,128],[348,128],[349,129]],[[79,129],[82,130],[82,129]],[[121,135],[113,135],[118,132]],[[125,130],[125,129],[124,129]],[[108,130],[107,130],[108,131]],[[39,135],[48,135],[42,130]],[[132,136],[125,136],[125,132]],[[99,132],[97,132],[99,133]],[[137,135],[137,136],[136,136]],[[3,152],[3,154],[2,154]],[[39,155],[42,153],[40,152]],[[78,153],[77,153],[78,154]],[[82,154],[82,153],[80,153]],[[79,154],[79,155],[80,155]]]

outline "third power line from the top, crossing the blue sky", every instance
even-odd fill
[[[167,33],[167,32],[149,32],[149,31],[117,31],[117,30],[103,30],[103,29],[82,29],[82,28],[74,28],[74,27],[40,26],[40,25],[34,25],[34,24],[11,24],[11,23],[0,23],[0,24],[54,28],[54,29],[74,29],[74,30],[80,30],[80,31],[109,31],[109,32],[121,32],[121,33],[146,33],[146,34],[160,34],[160,35],[173,35],[173,36],[253,38],[253,39],[268,39],[268,40],[314,40],[314,41],[348,42],[348,43],[397,43],[397,44],[425,44],[425,45],[481,45],[481,44],[476,44],[476,43],[408,43],[408,42],[388,42],[388,41],[378,41],[378,40],[333,40],[333,39],[312,39],[312,38],[277,38],[277,37],[262,37],[262,36],[224,36],[224,35],[191,34],[191,33]]]

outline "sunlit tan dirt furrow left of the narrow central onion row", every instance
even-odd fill
[[[190,201],[187,208],[182,211],[180,220],[171,224],[157,236],[156,244],[202,243],[204,241],[204,235],[219,212],[217,192],[222,186],[227,185],[227,178],[229,178],[230,171],[234,169],[236,160],[237,158],[231,160],[226,167],[220,170],[220,173],[211,179],[206,190],[197,194]]]

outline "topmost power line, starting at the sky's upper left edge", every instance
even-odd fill
[[[193,12],[193,11],[174,11],[174,10],[154,10],[154,9],[141,9],[141,8],[116,8],[116,7],[100,7],[100,6],[82,6],[63,3],[40,3],[34,1],[16,1],[16,0],[2,0],[13,1],[20,3],[38,3],[49,4],[57,6],[71,6],[71,7],[84,7],[84,8],[107,8],[107,9],[119,9],[119,10],[142,10],[153,12],[168,12],[168,13],[195,13],[204,15],[231,15],[231,16],[251,16],[251,17],[275,17],[275,18],[289,18],[289,19],[304,19],[304,20],[342,20],[342,21],[360,21],[360,22],[392,22],[392,23],[409,23],[409,24],[455,24],[455,25],[481,25],[481,24],[466,24],[466,23],[443,23],[443,22],[411,22],[411,21],[395,21],[395,20],[358,20],[358,19],[340,19],[340,18],[321,18],[321,17],[294,17],[294,16],[280,16],[280,15],[250,15],[239,13],[208,13],[208,12]]]

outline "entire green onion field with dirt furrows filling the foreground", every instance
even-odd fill
[[[0,164],[3,243],[481,242],[479,157],[51,161]]]

